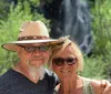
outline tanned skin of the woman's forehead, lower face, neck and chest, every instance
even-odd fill
[[[67,58],[75,58],[75,56],[71,48],[68,46],[57,58],[67,59]],[[52,69],[59,76],[62,85],[59,90],[60,94],[73,94],[73,93],[82,94],[82,80],[79,79],[79,76],[77,75],[78,63],[73,65],[68,65],[67,63],[64,63],[61,66],[58,66],[53,63]]]

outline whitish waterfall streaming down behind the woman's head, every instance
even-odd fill
[[[88,4],[80,0],[64,0],[64,32],[89,54],[92,49],[91,17]]]

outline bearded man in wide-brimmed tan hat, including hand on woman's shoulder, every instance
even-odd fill
[[[16,51],[20,61],[0,76],[0,94],[53,94],[58,83],[56,74],[44,70],[51,54],[51,45],[62,40],[49,38],[48,30],[41,21],[24,22],[18,41],[6,43],[3,49]],[[110,94],[111,85],[104,83],[104,94]]]

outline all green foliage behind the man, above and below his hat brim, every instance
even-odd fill
[[[36,14],[31,13],[27,0],[24,0],[23,3],[19,2],[16,7],[12,3],[8,18],[6,20],[0,20],[0,46],[6,42],[16,41],[22,22],[29,20],[42,20],[44,23],[48,23],[43,15],[38,12]],[[18,61],[18,56],[16,53],[1,48],[0,53],[0,73],[3,73]]]

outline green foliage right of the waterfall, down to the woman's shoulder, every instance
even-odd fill
[[[91,56],[84,56],[84,70],[80,74],[111,80],[111,1],[95,0],[91,13],[93,51]]]

